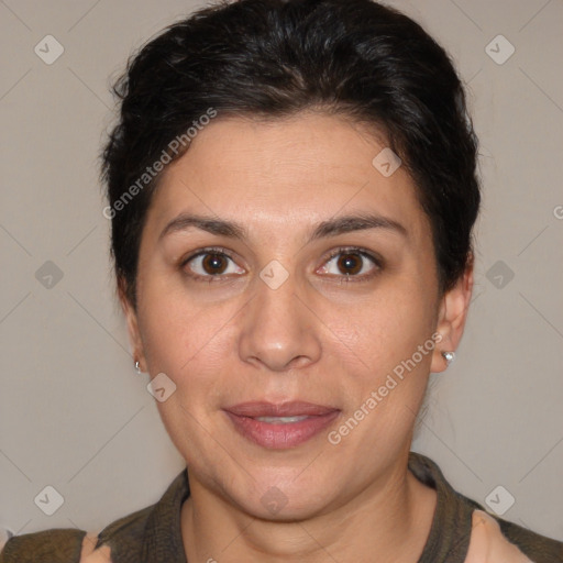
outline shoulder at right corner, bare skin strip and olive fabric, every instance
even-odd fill
[[[563,562],[563,543],[534,533],[484,510],[474,510],[465,563]]]

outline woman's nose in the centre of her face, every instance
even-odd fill
[[[294,274],[278,287],[264,279],[256,278],[243,312],[241,360],[273,372],[313,364],[321,353],[320,321],[306,306],[303,285]]]

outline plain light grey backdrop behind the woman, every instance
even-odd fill
[[[474,300],[456,362],[431,376],[413,449],[482,504],[501,485],[515,497],[504,518],[563,540],[563,2],[389,3],[452,54],[482,142]],[[110,81],[198,5],[0,2],[0,526],[15,533],[99,531],[156,501],[183,468],[148,376],[133,371],[97,155]],[[34,52],[47,34],[65,49],[52,65]],[[498,34],[516,48],[504,64],[486,51]],[[64,497],[51,517],[34,503],[47,485]]]

